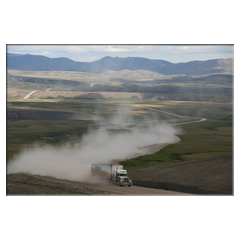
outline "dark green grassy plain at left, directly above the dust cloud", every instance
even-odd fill
[[[79,140],[93,121],[67,120],[8,120],[7,162],[23,148],[35,144],[61,146]]]

